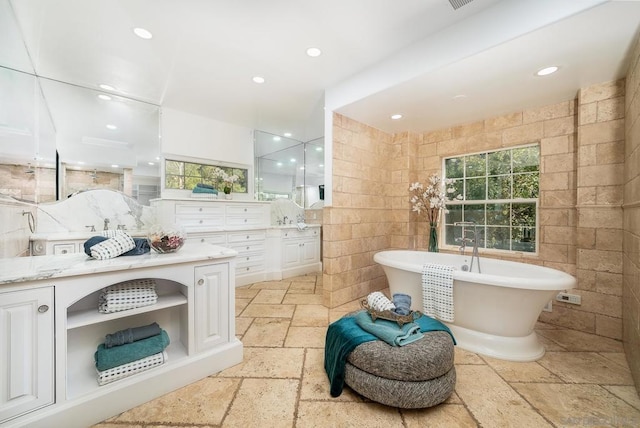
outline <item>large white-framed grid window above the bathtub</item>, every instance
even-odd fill
[[[446,158],[444,176],[462,195],[447,202],[447,245],[460,245],[464,221],[477,225],[479,248],[536,252],[539,144]]]

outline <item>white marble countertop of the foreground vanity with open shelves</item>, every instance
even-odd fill
[[[175,253],[158,254],[152,251],[142,256],[121,256],[109,260],[95,260],[84,253],[15,257],[0,259],[0,285],[113,270],[224,259],[237,255],[237,251],[230,248],[186,242]]]

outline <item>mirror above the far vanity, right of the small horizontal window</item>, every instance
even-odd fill
[[[324,138],[298,141],[255,132],[256,199],[290,199],[303,208],[324,200]]]

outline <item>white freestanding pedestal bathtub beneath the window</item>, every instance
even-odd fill
[[[543,266],[480,259],[469,272],[471,256],[389,250],[376,253],[389,280],[391,296],[411,296],[411,309],[422,311],[422,267],[425,263],[453,266],[455,319],[445,322],[459,347],[510,361],[535,361],[544,347],[533,331],[547,302],[575,287],[573,276]]]

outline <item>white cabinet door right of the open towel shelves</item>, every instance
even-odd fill
[[[196,352],[229,341],[229,265],[195,269]]]

